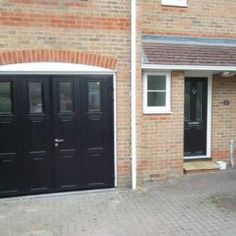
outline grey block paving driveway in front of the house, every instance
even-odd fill
[[[1,236],[236,235],[236,170],[0,199]]]

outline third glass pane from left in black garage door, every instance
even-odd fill
[[[60,82],[59,83],[60,93],[60,112],[72,112],[72,83],[71,82]]]

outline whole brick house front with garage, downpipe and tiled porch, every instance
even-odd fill
[[[0,194],[130,186],[227,159],[233,0],[0,3]]]

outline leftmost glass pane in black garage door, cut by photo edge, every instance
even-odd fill
[[[11,83],[1,82],[0,83],[0,113],[11,113],[12,102],[11,102]]]

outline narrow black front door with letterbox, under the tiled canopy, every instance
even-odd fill
[[[207,78],[186,78],[184,97],[184,156],[206,155]]]

